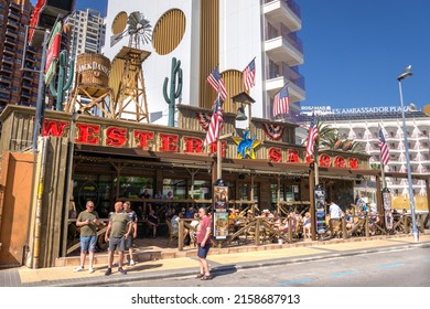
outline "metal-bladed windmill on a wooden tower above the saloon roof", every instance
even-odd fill
[[[149,122],[143,61],[151,54],[141,45],[151,42],[152,26],[141,12],[119,12],[112,22],[110,46],[129,36],[112,61],[109,86],[114,89],[116,118]]]

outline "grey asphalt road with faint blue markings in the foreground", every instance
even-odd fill
[[[212,267],[216,269],[216,265]],[[111,286],[430,287],[429,274],[430,247],[424,246],[239,270],[229,267],[214,271],[213,280],[208,281],[187,276]]]

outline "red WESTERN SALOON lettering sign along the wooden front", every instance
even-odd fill
[[[45,119],[42,127],[42,136],[63,137],[69,121]],[[139,128],[137,128],[139,127]],[[115,148],[137,148],[152,151],[170,151],[182,153],[215,153],[216,143],[212,143],[208,150],[203,147],[204,132],[178,130],[178,134],[163,131],[159,126],[114,126],[88,122],[75,122],[75,143],[105,146]],[[226,157],[227,147],[235,147],[234,143],[222,141],[222,156]],[[267,159],[270,162],[311,162],[307,160],[303,147],[288,149],[284,145],[279,147],[261,147],[257,153],[262,151],[258,159]],[[320,167],[337,167],[358,169],[359,160],[345,156],[329,156],[322,153],[319,157]]]

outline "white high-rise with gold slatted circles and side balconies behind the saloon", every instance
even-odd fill
[[[127,31],[125,15],[135,11],[143,13],[153,30],[152,42],[141,49],[151,52],[143,62],[144,89],[149,114],[162,114],[157,124],[168,124],[163,83],[165,77],[170,83],[173,57],[183,71],[176,104],[212,108],[216,94],[206,78],[218,65],[228,90],[223,108],[236,113],[238,106],[230,97],[244,90],[241,72],[255,58],[251,116],[272,119],[273,97],[287,83],[290,114],[299,114],[305,90],[299,73],[303,46],[297,35],[301,13],[294,0],[108,1],[104,54],[110,60],[129,44],[127,34],[114,46],[110,38]]]

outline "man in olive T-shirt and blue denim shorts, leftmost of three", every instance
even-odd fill
[[[97,225],[100,224],[97,212],[94,211],[94,203],[88,201],[85,204],[86,210],[80,212],[76,219],[76,226],[80,227],[80,265],[75,268],[75,273],[83,271],[87,252],[89,253],[88,273],[94,273],[94,251],[97,242]]]

